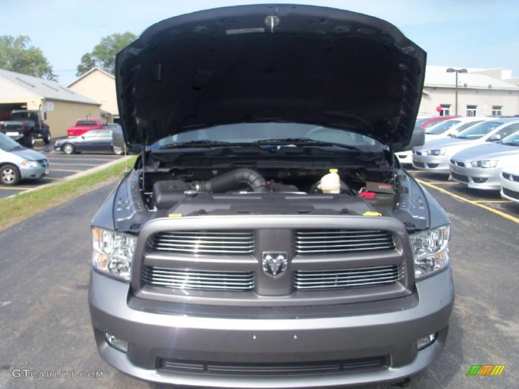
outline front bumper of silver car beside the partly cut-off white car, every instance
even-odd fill
[[[450,176],[456,182],[473,189],[500,190],[499,168],[467,168],[449,163]]]

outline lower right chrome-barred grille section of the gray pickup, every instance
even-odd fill
[[[403,264],[356,269],[298,270],[294,272],[294,287],[302,290],[378,286],[397,282],[403,276]]]

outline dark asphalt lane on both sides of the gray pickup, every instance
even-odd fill
[[[519,223],[503,215],[517,217],[519,205],[487,202],[488,208],[498,206],[496,213],[470,202],[462,189],[456,197],[453,185],[434,184],[434,177],[416,174],[432,183],[426,187],[452,221],[456,301],[445,351],[408,387],[517,388]],[[93,340],[87,305],[89,227],[114,185],[0,231],[0,387],[163,387],[134,380],[105,364]],[[472,377],[466,375],[471,365],[506,368],[498,377]],[[13,369],[94,371],[103,377],[13,377]]]

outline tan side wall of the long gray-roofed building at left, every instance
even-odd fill
[[[53,105],[53,110],[48,110],[48,103]],[[47,108],[46,123],[50,127],[52,137],[66,136],[66,129],[73,127],[78,118],[84,118],[87,115],[100,118],[101,110],[99,105],[72,103],[58,100],[45,100]]]

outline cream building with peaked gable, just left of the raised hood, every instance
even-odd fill
[[[119,118],[115,77],[93,67],[77,78],[68,88],[101,103],[101,115],[104,121],[111,123]]]

